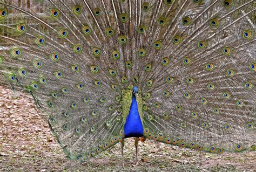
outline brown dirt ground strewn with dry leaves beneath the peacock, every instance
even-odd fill
[[[125,140],[125,169],[119,143],[80,163],[65,157],[48,123],[33,100],[0,86],[0,171],[256,171],[256,152],[197,152],[146,140],[139,143],[139,161],[134,167],[134,140]]]

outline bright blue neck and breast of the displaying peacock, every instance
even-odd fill
[[[139,118],[139,111],[135,95],[132,95],[132,104],[129,115],[126,117],[124,125],[125,137],[141,137],[143,136],[142,121]]]

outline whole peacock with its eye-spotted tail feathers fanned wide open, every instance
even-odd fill
[[[31,95],[65,155],[124,140],[255,150],[253,0],[0,1],[0,85]]]

